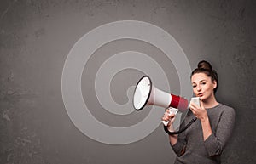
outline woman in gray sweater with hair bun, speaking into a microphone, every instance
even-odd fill
[[[218,103],[215,93],[218,88],[218,75],[207,61],[201,61],[191,73],[193,92],[201,98],[201,106],[189,104],[189,112],[181,128],[193,118],[197,120],[186,131],[169,135],[172,150],[177,154],[175,163],[212,164],[220,163],[220,157],[235,124],[235,110]],[[175,115],[166,110],[163,121],[173,131]]]

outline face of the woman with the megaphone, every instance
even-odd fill
[[[212,78],[205,73],[195,73],[191,77],[193,92],[196,97],[206,100],[214,96],[213,89],[217,87],[216,81],[212,82]]]

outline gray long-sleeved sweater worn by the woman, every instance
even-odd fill
[[[197,119],[186,131],[178,135],[177,143],[172,150],[177,154],[175,164],[216,164],[220,163],[220,156],[224,146],[230,139],[235,125],[235,110],[229,106],[218,104],[207,109],[212,127],[212,135],[204,141],[201,122]],[[189,110],[181,127],[195,118]]]

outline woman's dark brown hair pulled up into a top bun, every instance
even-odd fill
[[[210,76],[212,78],[212,82],[216,81],[217,86],[214,88],[214,93],[216,93],[217,88],[218,88],[218,74],[215,70],[212,70],[212,65],[207,62],[206,60],[201,60],[197,68],[195,68],[194,71],[192,71],[190,78],[195,74],[195,73],[205,73],[207,76]]]

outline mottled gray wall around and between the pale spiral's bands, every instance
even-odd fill
[[[256,163],[255,8],[253,0],[1,0],[0,163],[173,162],[161,126],[135,143],[111,145],[80,133],[67,116],[61,97],[67,54],[85,33],[117,20],[141,20],[169,32],[192,68],[201,59],[212,63],[220,78],[218,101],[236,109],[236,128],[223,163]],[[166,63],[156,48],[131,40],[100,48],[84,68],[83,82],[93,83],[104,59],[130,49],[152,55],[170,71],[170,81],[177,83],[172,63]],[[136,83],[139,76],[139,72],[128,70],[113,79],[113,86],[123,83],[112,88],[117,102],[125,101],[122,88]],[[145,115],[134,114],[131,120],[109,115],[96,102],[91,85],[84,84],[83,93],[94,106],[91,112],[109,125],[124,120],[122,123],[129,124]]]

